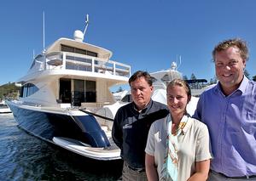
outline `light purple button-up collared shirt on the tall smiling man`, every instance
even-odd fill
[[[201,94],[193,117],[209,129],[212,170],[229,177],[256,175],[256,82],[244,76],[229,96],[218,82]]]

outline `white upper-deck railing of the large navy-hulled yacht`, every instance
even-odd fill
[[[84,54],[53,52],[46,55],[45,70],[91,71],[114,76],[131,76],[131,66]]]

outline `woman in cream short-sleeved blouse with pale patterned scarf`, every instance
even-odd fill
[[[191,98],[187,82],[175,79],[167,86],[170,114],[154,122],[148,133],[146,173],[154,180],[207,180],[210,141],[207,126],[190,117],[186,106]]]

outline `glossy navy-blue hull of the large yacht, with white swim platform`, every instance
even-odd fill
[[[94,116],[35,110],[13,102],[8,105],[19,126],[40,139],[96,160],[120,159],[119,149],[108,149],[113,146]]]

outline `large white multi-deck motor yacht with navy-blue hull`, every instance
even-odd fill
[[[61,37],[45,48],[18,81],[20,99],[7,103],[19,126],[40,139],[91,159],[120,159],[111,129],[121,104],[109,88],[126,84],[131,66],[83,40],[75,31],[74,39]]]

